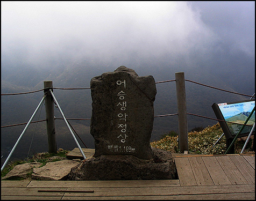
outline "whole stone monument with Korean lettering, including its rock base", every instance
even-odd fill
[[[125,66],[91,79],[95,154],[73,168],[68,179],[176,178],[170,152],[150,146],[156,94],[152,76],[139,77]]]

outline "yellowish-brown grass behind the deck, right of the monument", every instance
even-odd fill
[[[221,140],[213,147],[218,138],[221,137],[223,130],[219,123],[213,126],[207,126],[204,129],[197,129],[188,133],[188,148],[189,153],[194,154],[224,154],[226,151],[226,138],[223,136]],[[152,147],[160,148],[162,150],[179,153],[178,136],[169,135],[166,133],[165,137],[151,143]],[[245,151],[252,151],[250,139]],[[234,152],[240,153],[245,142],[238,138],[234,144]]]

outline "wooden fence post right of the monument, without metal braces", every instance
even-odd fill
[[[179,121],[179,148],[184,153],[184,151],[188,151],[188,122],[184,72],[176,72],[175,80]]]

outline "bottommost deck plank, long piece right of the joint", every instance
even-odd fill
[[[115,196],[108,196],[108,197],[80,197],[80,196],[64,196],[63,200],[254,200],[255,193],[253,192],[246,192],[246,193],[222,193],[222,194],[207,194],[207,195],[172,195],[172,196],[122,196],[122,197],[115,197]]]

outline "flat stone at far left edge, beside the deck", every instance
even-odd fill
[[[2,180],[8,179],[17,179],[17,178],[26,178],[27,174],[31,173],[34,167],[41,166],[40,162],[29,162],[15,166],[9,173],[7,173]]]

